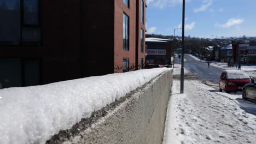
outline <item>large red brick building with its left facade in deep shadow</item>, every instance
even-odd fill
[[[144,63],[145,8],[144,0],[0,0],[2,88]]]

